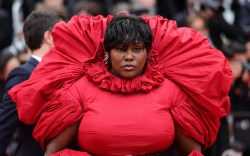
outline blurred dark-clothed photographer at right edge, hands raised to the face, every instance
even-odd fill
[[[244,45],[232,42],[226,47],[229,58],[234,83],[230,91],[231,110],[233,112],[250,112],[250,62],[247,59],[247,50]]]

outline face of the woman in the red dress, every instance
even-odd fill
[[[147,50],[142,43],[130,44],[127,48],[120,44],[110,51],[111,72],[126,79],[141,75],[146,60]]]

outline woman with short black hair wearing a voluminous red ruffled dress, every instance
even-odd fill
[[[74,137],[84,152],[55,155],[160,154],[173,145],[194,156],[215,141],[231,70],[195,31],[160,16],[82,15],[53,38],[31,79],[9,92],[20,119],[37,123],[47,155]]]

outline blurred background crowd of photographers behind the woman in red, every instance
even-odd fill
[[[30,56],[22,28],[33,10],[55,10],[68,20],[80,14],[107,16],[121,11],[161,15],[175,20],[179,27],[199,31],[212,47],[225,54],[234,76],[229,94],[230,115],[221,120],[218,140],[204,154],[247,155],[250,147],[250,0],[0,0],[0,97],[8,73]],[[7,155],[11,155],[14,148],[12,144]]]

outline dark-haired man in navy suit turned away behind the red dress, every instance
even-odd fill
[[[7,78],[2,104],[0,105],[0,155],[4,156],[6,148],[18,128],[18,147],[16,156],[43,156],[44,151],[32,137],[34,125],[26,125],[18,120],[16,104],[8,91],[15,85],[27,80],[44,54],[54,47],[51,31],[54,25],[65,18],[52,11],[32,12],[24,22],[23,32],[27,47],[32,55],[23,65],[13,69]],[[31,93],[32,94],[32,93]]]

